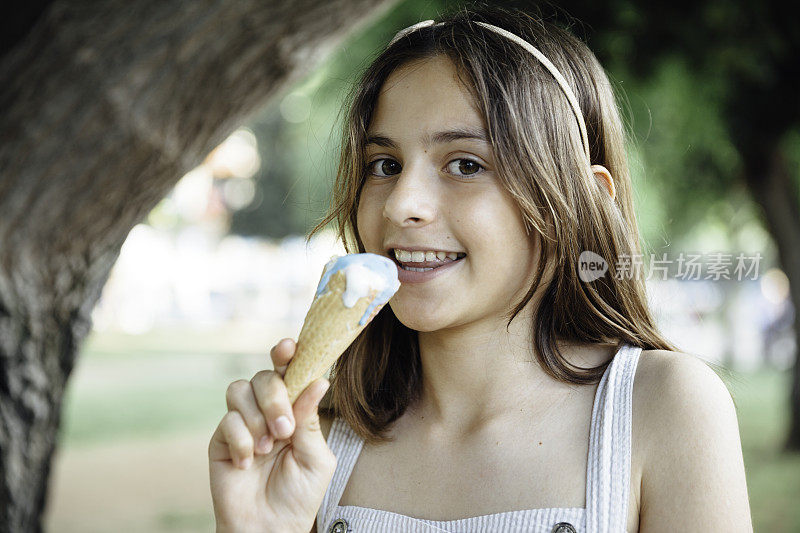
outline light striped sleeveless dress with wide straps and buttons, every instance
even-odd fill
[[[642,349],[623,344],[606,369],[592,407],[586,507],[507,511],[460,520],[425,520],[380,509],[339,505],[364,441],[334,419],[328,446],[338,460],[317,513],[319,533],[618,533],[628,518],[633,378]]]

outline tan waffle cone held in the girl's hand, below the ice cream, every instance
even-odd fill
[[[375,309],[366,324],[359,325],[378,291],[359,298],[353,307],[345,307],[342,294],[346,285],[345,272],[340,270],[330,277],[328,289],[311,303],[283,378],[291,403],[312,382],[325,375],[380,309]]]

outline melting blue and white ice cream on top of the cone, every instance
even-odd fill
[[[322,279],[317,285],[317,296],[325,292],[331,276],[340,270],[345,271],[347,278],[345,292],[342,294],[345,307],[353,307],[359,298],[368,296],[372,290],[378,291],[377,298],[372,300],[361,317],[360,326],[367,323],[376,307],[388,302],[400,288],[397,265],[388,257],[369,253],[348,254],[334,257],[325,265]]]

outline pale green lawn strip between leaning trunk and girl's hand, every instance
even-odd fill
[[[271,368],[268,351],[277,340],[262,330],[95,334],[70,379],[60,443],[80,446],[206,427],[210,437],[227,410],[228,384]]]

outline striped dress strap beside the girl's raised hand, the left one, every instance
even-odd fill
[[[336,456],[336,471],[328,484],[322,505],[317,513],[317,531],[323,532],[325,524],[329,523],[336,512],[336,506],[344,494],[347,480],[358,460],[358,454],[364,441],[350,429],[347,423],[336,417],[333,419],[330,433],[328,434],[328,447]]]

